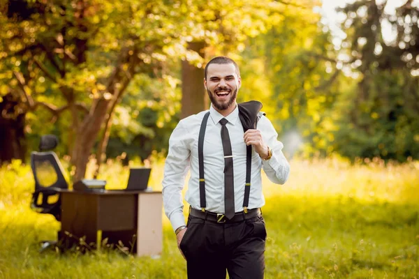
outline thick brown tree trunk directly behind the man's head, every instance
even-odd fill
[[[194,50],[204,57],[205,42],[189,43],[189,50]],[[182,119],[207,110],[209,100],[204,87],[204,68],[196,68],[188,61],[182,61]]]

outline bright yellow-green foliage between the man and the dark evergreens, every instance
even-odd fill
[[[242,91],[263,100],[290,156],[300,147],[297,142],[307,143],[307,156],[331,153],[330,110],[339,95],[335,80],[340,71],[327,71],[335,56],[331,35],[323,31],[320,15],[314,11],[318,3],[306,4],[289,10],[244,52],[244,60],[251,61],[244,66],[245,73],[249,68],[253,75],[249,89],[243,86]]]

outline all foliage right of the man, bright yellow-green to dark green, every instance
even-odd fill
[[[258,73],[249,91],[271,98],[264,102],[268,115],[291,154],[304,142],[305,156],[418,158],[418,8],[407,1],[388,15],[385,3],[342,8],[341,45],[332,44],[316,13],[303,9],[286,14],[244,52],[251,61],[244,67]],[[386,20],[397,29],[392,42],[381,34]]]

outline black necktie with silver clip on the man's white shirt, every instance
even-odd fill
[[[228,120],[223,118],[221,124],[221,141],[223,142],[224,151],[224,206],[226,209],[226,217],[233,218],[234,209],[234,175],[233,175],[233,153],[231,151],[230,136],[226,124]]]

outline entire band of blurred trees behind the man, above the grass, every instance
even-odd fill
[[[3,0],[0,24],[0,162],[46,133],[79,178],[90,155],[164,155],[215,55],[288,158],[419,158],[418,1]]]

